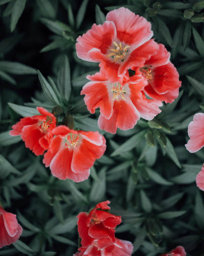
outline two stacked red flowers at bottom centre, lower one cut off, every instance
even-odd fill
[[[121,217],[108,212],[109,203],[98,203],[89,214],[78,214],[81,247],[74,256],[131,256],[133,245],[115,237],[115,228],[121,223]]]

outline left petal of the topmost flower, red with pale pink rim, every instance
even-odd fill
[[[98,26],[94,24],[91,30],[77,38],[76,49],[78,58],[84,61],[99,62],[98,57],[95,59],[95,50],[96,53],[106,54],[115,34],[116,29],[112,22],[106,21],[103,25]],[[90,51],[92,51],[91,57],[89,55]]]

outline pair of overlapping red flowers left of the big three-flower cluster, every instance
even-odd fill
[[[41,115],[25,117],[12,126],[10,135],[21,135],[26,147],[36,155],[44,154],[43,163],[50,166],[53,176],[75,182],[84,181],[94,161],[105,152],[105,138],[98,131],[56,126],[56,117],[43,107]]]

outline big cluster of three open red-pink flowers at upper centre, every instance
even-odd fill
[[[100,63],[100,72],[88,75],[91,82],[81,91],[91,113],[100,108],[99,128],[111,133],[133,128],[140,117],[152,120],[160,113],[162,101],[178,97],[177,69],[152,36],[150,22],[121,7],[77,38],[77,56]]]

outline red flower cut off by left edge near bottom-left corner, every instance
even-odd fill
[[[8,213],[0,206],[0,248],[15,243],[23,228],[18,224],[16,215]]]

